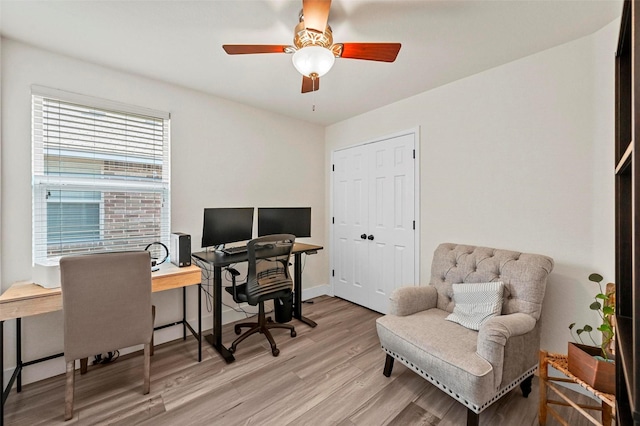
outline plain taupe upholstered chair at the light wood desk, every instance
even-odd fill
[[[144,387],[149,393],[151,259],[149,252],[101,253],[60,259],[67,362],[65,420],[73,417],[75,360],[144,344]]]

